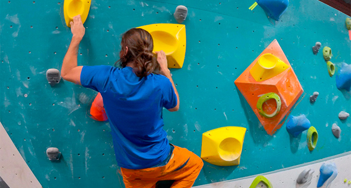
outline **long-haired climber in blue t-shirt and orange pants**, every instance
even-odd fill
[[[62,77],[101,93],[125,186],[155,187],[159,180],[174,180],[173,188],[191,187],[204,163],[188,149],[169,144],[162,128],[162,108],[179,109],[165,53],[156,52],[156,60],[151,35],[133,28],[122,36],[116,62],[122,68],[77,66],[85,28],[79,15],[70,24],[73,37]]]

